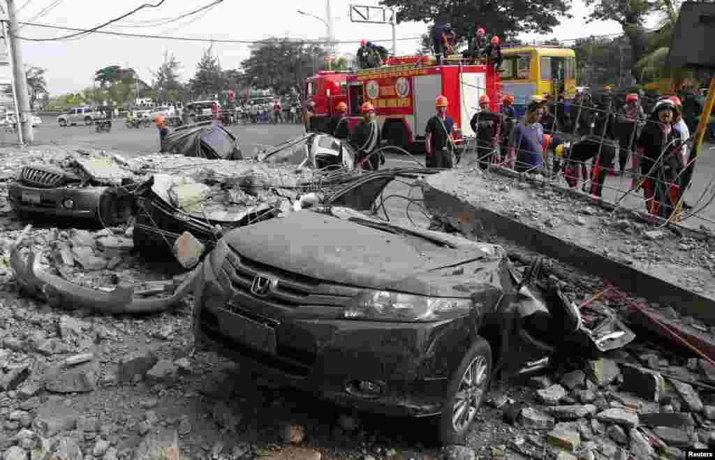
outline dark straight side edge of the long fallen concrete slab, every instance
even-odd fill
[[[449,221],[465,234],[493,234],[514,241],[588,274],[612,281],[615,286],[634,296],[659,304],[669,304],[681,314],[693,316],[715,326],[715,300],[646,274],[643,271],[609,259],[589,249],[559,239],[522,222],[483,207],[470,204],[423,182],[427,209]]]

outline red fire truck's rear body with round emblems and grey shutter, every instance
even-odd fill
[[[480,96],[489,96],[491,111],[501,109],[501,83],[492,66],[459,61],[435,66],[425,56],[405,56],[389,64],[393,62],[396,64],[347,75],[351,129],[360,121],[362,104],[370,101],[382,124],[383,140],[421,154],[425,127],[436,113],[435,100],[440,94],[449,100],[447,114],[454,120],[455,144],[474,135],[470,120],[479,111]]]

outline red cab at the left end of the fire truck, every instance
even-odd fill
[[[307,78],[303,84],[303,110],[307,104],[315,102],[312,109],[312,126],[319,131],[325,131],[330,119],[335,115],[335,107],[340,102],[346,102],[345,86],[347,71],[320,71]]]

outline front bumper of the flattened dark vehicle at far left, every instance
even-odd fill
[[[109,187],[57,187],[37,189],[11,182],[8,198],[16,211],[48,214],[58,217],[97,217],[99,199]]]

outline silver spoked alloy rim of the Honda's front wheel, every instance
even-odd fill
[[[452,425],[462,431],[472,423],[479,409],[487,381],[487,360],[477,356],[464,371],[452,406]]]

